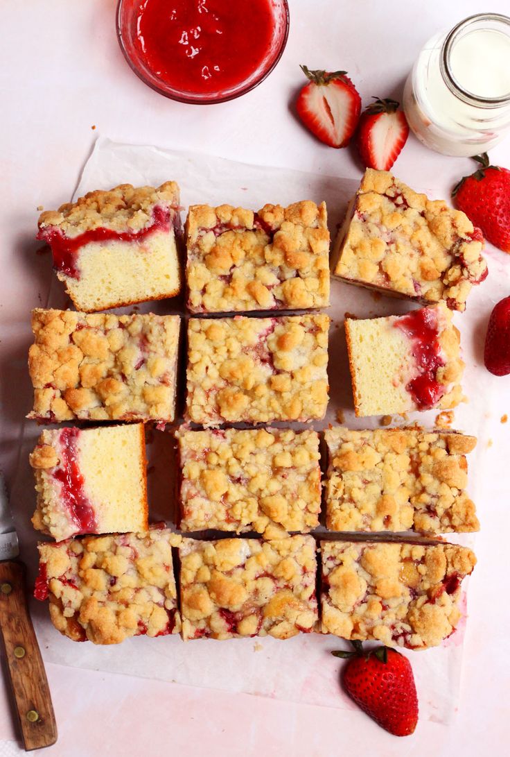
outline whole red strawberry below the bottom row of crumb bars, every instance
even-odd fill
[[[370,718],[394,736],[413,734],[418,723],[418,697],[409,660],[386,646],[365,652],[333,652],[347,658],[342,680],[348,695]]]

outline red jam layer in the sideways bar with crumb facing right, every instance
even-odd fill
[[[437,381],[437,369],[444,366],[440,355],[437,314],[423,308],[414,310],[394,322],[397,329],[413,342],[411,353],[416,360],[418,375],[406,386],[419,410],[428,410],[440,400],[446,391],[444,384]]]

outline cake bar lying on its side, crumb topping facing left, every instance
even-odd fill
[[[30,455],[32,523],[57,541],[78,534],[147,531],[144,425],[46,430]]]

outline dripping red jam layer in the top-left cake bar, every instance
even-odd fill
[[[153,208],[153,223],[138,232],[117,232],[99,226],[97,229],[88,229],[76,237],[67,237],[59,226],[47,226],[39,229],[37,238],[50,245],[55,270],[65,273],[71,279],[79,279],[79,249],[83,245],[94,241],[141,241],[153,232],[169,231],[171,216],[172,210],[169,207],[156,205]]]

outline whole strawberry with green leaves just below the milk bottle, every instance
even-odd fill
[[[490,166],[486,152],[475,155],[474,160],[481,168],[461,179],[452,197],[456,207],[480,227],[487,241],[510,252],[510,171]]]

